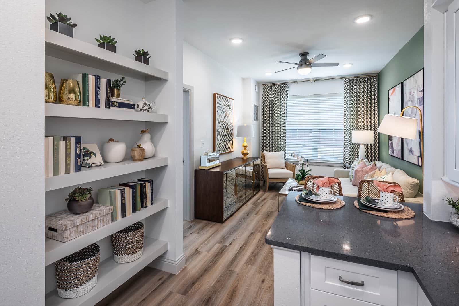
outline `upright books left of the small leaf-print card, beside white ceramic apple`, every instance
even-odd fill
[[[45,136],[45,177],[81,171],[81,136]]]

